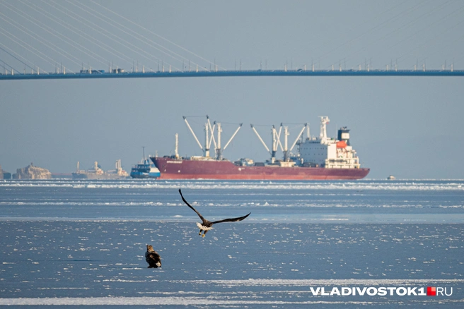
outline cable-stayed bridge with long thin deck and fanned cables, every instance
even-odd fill
[[[265,66],[261,63],[255,66],[260,69],[242,69],[241,60],[239,69],[237,60],[235,69],[224,68],[216,64],[216,59],[205,59],[158,35],[154,28],[140,24],[139,20],[126,18],[126,12],[117,11],[117,7],[107,6],[94,0],[0,0],[0,80],[464,75],[464,70],[456,69],[455,65],[455,61],[463,63],[464,56],[456,52],[451,53],[453,64],[446,65],[444,61],[441,69],[426,70],[425,66],[426,60],[441,58],[436,54],[458,50],[459,45],[454,42],[460,40],[441,39],[464,23],[464,5],[451,1],[385,5],[370,20],[340,30],[340,37],[331,38],[336,44],[329,40],[315,44],[309,53],[315,61],[311,61],[309,69],[306,65],[294,68],[293,59],[290,66],[286,63],[277,69],[268,69],[267,60]],[[158,8],[147,6],[146,9]],[[427,18],[425,24],[424,18]],[[357,26],[361,30],[356,30]],[[311,44],[305,46],[301,51],[306,54]],[[397,49],[398,46],[402,48]],[[385,54],[394,54],[395,58],[384,60],[383,69],[374,69],[371,60],[368,65],[364,58],[366,50],[369,54],[391,51]],[[422,56],[414,61],[413,54]],[[362,64],[356,60],[359,58],[365,59]],[[137,66],[134,59],[140,59]],[[276,56],[272,59],[276,62]],[[329,59],[342,60],[334,63]],[[413,61],[416,64],[411,66]],[[297,62],[305,60],[300,57],[295,59]],[[130,69],[124,71],[124,67]],[[108,71],[92,68],[108,68]]]

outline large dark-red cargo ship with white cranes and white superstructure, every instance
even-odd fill
[[[211,126],[207,117],[207,123],[205,123],[206,142],[203,147],[185,117],[184,120],[198,145],[204,151],[204,156],[180,158],[176,134],[174,156],[150,157],[161,173],[159,179],[349,180],[364,178],[370,171],[370,169],[361,168],[356,152],[349,145],[349,130],[346,127],[340,128],[337,139],[327,138],[325,126],[329,121],[328,117],[321,117],[321,132],[318,138],[312,138],[309,135],[309,127],[306,123],[290,148],[287,147],[286,136],[289,135],[287,128],[284,127],[283,147],[280,143],[282,124],[279,132],[273,126],[272,151],[269,151],[256,129],[251,125],[253,131],[271,154],[271,159],[267,162],[253,162],[251,159],[231,162],[222,158],[222,150],[226,149],[240,129],[241,124],[228,140],[224,149],[221,149],[221,123],[214,123],[214,126]],[[215,128],[218,132],[217,143],[214,139]],[[308,133],[306,139],[303,140],[301,136],[305,128],[308,129]],[[209,137],[209,132],[211,132],[211,137]],[[214,142],[216,157],[209,156],[211,141]],[[282,160],[275,159],[279,145],[284,153]],[[298,154],[292,155],[291,150],[295,145],[298,145]]]

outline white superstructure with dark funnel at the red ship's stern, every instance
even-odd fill
[[[359,169],[359,158],[349,145],[349,130],[340,128],[338,140],[327,138],[327,116],[320,117],[320,135],[307,137],[299,143],[299,159],[304,166],[320,166],[327,169]]]

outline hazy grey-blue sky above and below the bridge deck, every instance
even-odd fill
[[[0,0],[1,73],[311,68],[464,70],[462,1]],[[130,171],[145,153],[202,151],[223,123],[236,160],[269,154],[270,129],[347,126],[367,178],[463,179],[460,77],[228,77],[1,80],[0,164]],[[223,142],[225,143],[225,142]],[[282,152],[278,152],[282,155]]]

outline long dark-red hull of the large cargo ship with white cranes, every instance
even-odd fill
[[[161,172],[159,179],[218,180],[354,180],[370,169],[325,169],[322,167],[237,166],[226,160],[150,158]]]

